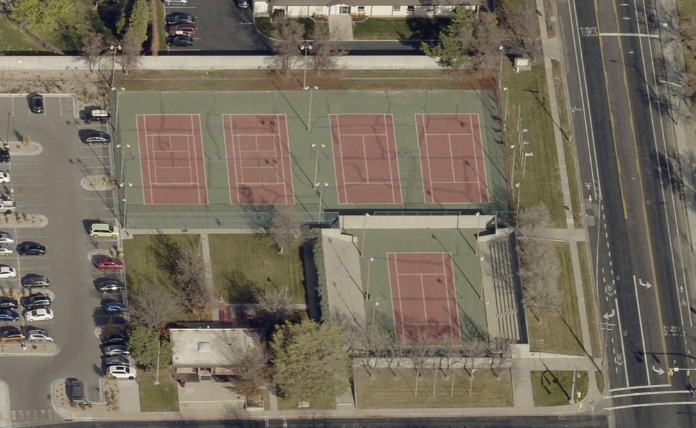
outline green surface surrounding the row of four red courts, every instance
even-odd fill
[[[310,119],[311,105],[311,119]],[[337,174],[329,114],[393,116],[401,204],[338,204]],[[480,122],[489,202],[426,203],[415,116],[475,113]],[[136,115],[199,115],[207,204],[145,205]],[[326,222],[332,212],[507,210],[505,166],[498,112],[487,91],[276,91],[119,92],[116,103],[115,167],[122,215],[128,228],[246,228],[254,207],[230,204],[225,114],[285,115],[294,206],[307,221]],[[308,123],[310,131],[308,131]],[[201,184],[203,184],[203,180]],[[319,187],[315,187],[319,183]]]

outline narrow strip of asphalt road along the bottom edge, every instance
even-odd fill
[[[84,428],[605,428],[606,416],[519,416],[513,418],[315,418],[270,420],[180,420],[143,422],[74,422]]]

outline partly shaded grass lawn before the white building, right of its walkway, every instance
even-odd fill
[[[435,40],[450,23],[448,17],[373,18],[353,26],[356,40]]]

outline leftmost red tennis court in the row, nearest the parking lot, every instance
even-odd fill
[[[143,203],[207,205],[200,116],[139,114],[136,122]]]

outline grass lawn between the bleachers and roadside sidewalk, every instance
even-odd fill
[[[585,355],[580,343],[583,331],[580,328],[580,313],[575,292],[570,246],[564,242],[553,242],[553,248],[561,262],[558,287],[562,293],[560,312],[542,314],[541,322],[530,312],[527,317],[530,350],[557,354]]]

